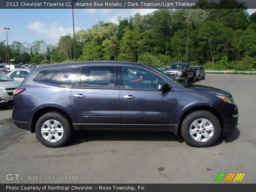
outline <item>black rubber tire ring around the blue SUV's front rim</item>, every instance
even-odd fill
[[[205,142],[199,142],[196,141],[192,138],[192,136],[190,136],[190,125],[192,124],[192,122],[194,122],[197,119],[200,118],[205,118],[207,120],[209,120],[212,125],[214,126],[214,132],[212,134],[212,137],[210,139],[208,139]],[[208,111],[204,111],[204,110],[199,110],[199,111],[195,111],[192,112],[190,114],[188,114],[188,116],[186,116],[184,118],[184,120],[182,121],[181,124],[181,134],[183,139],[185,140],[185,142],[192,147],[209,147],[212,146],[220,137],[220,133],[221,133],[221,127],[220,127],[220,122],[218,120],[218,118],[216,118],[216,116],[214,114],[212,114],[211,112]],[[197,133],[199,134],[199,133]],[[200,132],[201,134],[201,132]],[[202,138],[202,136],[201,136]]]

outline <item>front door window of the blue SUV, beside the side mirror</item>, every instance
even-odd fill
[[[136,72],[136,74],[134,74]],[[156,90],[158,85],[163,82],[154,74],[145,70],[136,68],[122,67],[122,80],[126,89],[153,89]]]

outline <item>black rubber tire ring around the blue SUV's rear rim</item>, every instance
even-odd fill
[[[56,120],[58,122],[60,122],[60,124],[62,124],[64,132],[63,132],[63,136],[60,140],[56,141],[56,142],[50,142],[47,141],[46,139],[44,139],[44,137],[42,136],[41,133],[41,127],[43,125],[44,122],[46,122],[47,120]],[[38,140],[45,146],[47,147],[62,147],[64,146],[64,144],[66,144],[71,136],[72,133],[72,128],[71,128],[71,123],[68,120],[68,117],[65,116],[64,114],[61,114],[59,112],[48,112],[46,114],[43,114],[36,122],[36,127],[35,127],[35,132],[36,132],[36,137],[38,138]],[[56,134],[56,133],[54,133]]]

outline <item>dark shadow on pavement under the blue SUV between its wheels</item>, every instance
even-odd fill
[[[183,138],[171,132],[139,131],[76,131],[66,146],[91,141],[174,141],[183,143]]]

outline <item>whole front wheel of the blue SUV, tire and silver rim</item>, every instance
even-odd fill
[[[193,147],[212,146],[220,137],[220,122],[208,111],[195,111],[184,118],[181,134],[185,142]]]

